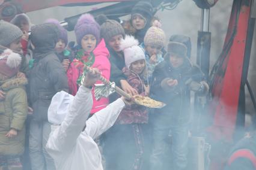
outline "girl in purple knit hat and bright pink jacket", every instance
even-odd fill
[[[76,95],[78,91],[78,84],[81,82],[82,73],[84,72],[84,65],[99,68],[103,77],[107,80],[110,77],[109,51],[106,48],[105,41],[103,39],[100,40],[100,26],[91,14],[84,14],[79,18],[75,26],[75,34],[79,49],[75,51],[76,59],[73,60],[67,71],[69,89],[72,95]],[[97,81],[97,83],[102,82]],[[102,98],[97,101],[93,95],[91,114],[102,110],[108,103],[108,98]]]

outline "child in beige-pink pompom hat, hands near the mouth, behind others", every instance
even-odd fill
[[[159,26],[160,22],[155,20],[153,26],[151,26],[145,34],[144,43],[141,44],[141,47],[145,51],[150,83],[155,66],[163,61],[161,50],[165,42],[165,32],[163,32]]]

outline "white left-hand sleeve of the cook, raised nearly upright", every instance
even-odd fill
[[[57,129],[50,133],[47,141],[47,151],[64,151],[73,148],[76,139],[81,134],[85,122],[93,107],[91,89],[81,86],[69,107],[69,111]]]

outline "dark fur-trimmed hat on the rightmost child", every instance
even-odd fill
[[[181,42],[169,42],[167,47],[167,53],[166,56],[169,57],[170,53],[177,54],[179,57],[187,57],[187,47],[186,45],[182,44]]]

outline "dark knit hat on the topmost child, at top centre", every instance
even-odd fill
[[[142,16],[147,24],[150,24],[151,19],[153,17],[153,7],[150,2],[147,1],[139,1],[133,8],[132,8],[132,17],[137,14]]]

